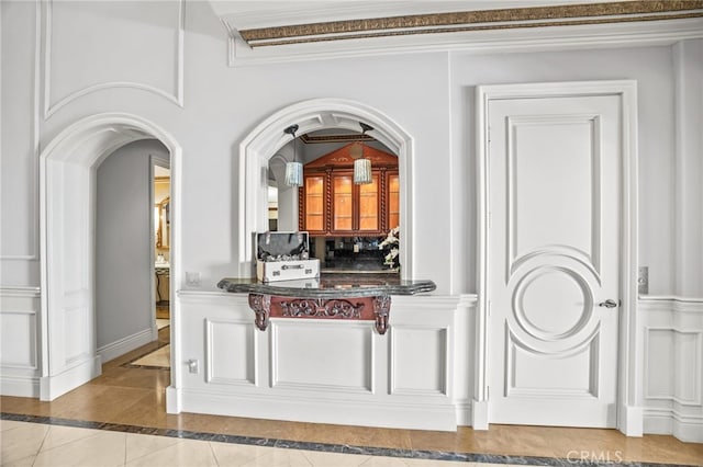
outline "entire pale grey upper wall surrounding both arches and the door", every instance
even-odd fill
[[[703,181],[703,117],[696,107],[701,41],[676,48],[433,52],[228,68],[226,35],[208,2],[187,4],[182,31],[179,2],[55,2],[51,10],[48,4],[38,10],[22,1],[0,5],[0,286],[40,284],[37,156],[76,121],[130,113],[178,141],[183,150],[182,271],[200,272],[202,288],[214,289],[220,278],[236,274],[238,236],[247,235],[237,225],[242,139],[288,105],[343,98],[377,109],[412,135],[414,270],[435,281],[437,296],[472,293],[473,88],[634,79],[639,92],[638,260],[649,266],[652,295],[703,295],[703,280],[696,277],[703,270],[700,238],[685,234],[679,241],[684,227],[698,232],[703,221],[700,203],[683,202]],[[44,24],[37,11],[51,24],[51,35],[37,31]],[[682,128],[688,128],[683,135]],[[689,161],[685,167],[698,162],[699,169],[682,168],[682,160]],[[679,179],[687,189],[677,192]],[[185,288],[185,277],[174,285]],[[2,332],[4,338],[10,330]]]

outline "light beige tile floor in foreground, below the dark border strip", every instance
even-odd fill
[[[491,466],[491,464],[248,446],[8,420],[0,421],[0,435],[2,436],[0,465],[5,467]]]

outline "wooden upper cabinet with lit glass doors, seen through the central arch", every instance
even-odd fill
[[[311,236],[384,236],[400,221],[398,158],[366,146],[371,183],[354,183],[352,145],[303,167],[299,228]]]

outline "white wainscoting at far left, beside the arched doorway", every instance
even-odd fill
[[[0,395],[38,397],[40,291],[0,287]]]

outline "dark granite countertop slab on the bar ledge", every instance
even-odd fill
[[[319,280],[279,281],[265,284],[256,278],[225,277],[217,287],[232,293],[300,298],[373,297],[432,292],[432,281],[401,280],[391,274],[322,274]]]

